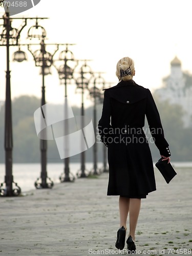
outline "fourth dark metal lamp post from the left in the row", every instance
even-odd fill
[[[76,79],[77,89],[81,89],[81,129],[83,131],[83,116],[84,116],[84,90],[88,89],[88,85],[90,79],[93,77],[93,72],[91,68],[87,65],[88,60],[83,60],[84,63],[80,68],[80,76]],[[77,172],[78,178],[86,178],[88,174],[86,174],[86,153],[84,151],[81,152],[81,169]]]

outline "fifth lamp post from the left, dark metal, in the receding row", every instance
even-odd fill
[[[101,84],[102,88],[104,88],[105,81],[101,77],[101,73],[98,73],[98,77],[94,78],[93,82],[94,86],[89,89],[90,95],[94,99],[94,105],[93,105],[93,125],[94,125],[94,132],[95,132],[95,143],[93,145],[93,174],[94,175],[99,175],[100,174],[100,169],[97,168],[97,137],[96,137],[96,129],[97,129],[97,113],[96,113],[96,105],[97,105],[97,100],[100,101],[101,99],[101,91],[99,88],[96,87],[96,84]]]

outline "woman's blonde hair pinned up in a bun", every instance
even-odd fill
[[[131,69],[131,75],[126,75],[121,77],[120,70],[126,70],[129,68]],[[127,80],[133,79],[134,72],[135,72],[134,61],[130,57],[124,57],[117,62],[116,76],[118,77],[119,80],[127,81]]]

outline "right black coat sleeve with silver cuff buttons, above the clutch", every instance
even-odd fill
[[[153,140],[161,156],[169,157],[170,151],[168,143],[164,138],[164,131],[161,124],[160,115],[150,90],[147,89],[146,118]]]

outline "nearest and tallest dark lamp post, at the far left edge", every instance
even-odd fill
[[[0,0],[3,7],[3,1]],[[3,24],[0,25],[0,46],[5,46],[7,50],[7,70],[6,70],[6,99],[5,99],[5,181],[0,185],[0,196],[18,196],[21,193],[20,187],[14,182],[12,175],[12,151],[13,151],[13,134],[12,134],[12,110],[11,110],[11,81],[10,81],[10,46],[17,46],[20,33],[27,25],[28,19],[34,18],[10,18],[9,11],[5,12]],[[16,29],[12,27],[12,20],[22,20],[22,25]]]

